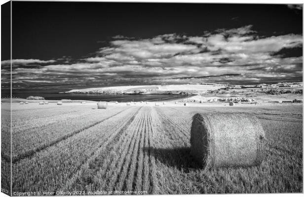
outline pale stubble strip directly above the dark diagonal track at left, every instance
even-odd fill
[[[78,116],[69,121],[61,121],[57,124],[37,127],[35,129],[13,131],[12,132],[12,158],[13,163],[23,158],[30,157],[38,151],[52,146],[64,139],[67,139],[76,133],[91,128],[103,121],[126,110],[126,108],[116,108],[101,113],[96,110],[90,116]],[[88,120],[83,123],[84,119]]]

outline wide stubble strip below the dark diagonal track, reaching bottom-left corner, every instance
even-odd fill
[[[112,119],[38,152],[32,158],[13,164],[13,188],[16,191],[24,191],[22,188],[35,191],[62,188],[98,149],[103,150],[112,141],[134,110],[128,108]]]

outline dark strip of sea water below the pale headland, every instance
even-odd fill
[[[73,94],[59,93],[69,90],[13,90],[13,98],[26,99],[29,96],[43,97],[46,100],[92,100],[92,101],[158,101],[158,100],[173,100],[183,99],[190,96],[186,95],[94,95],[94,94]],[[7,98],[10,95],[9,90],[1,89],[1,98]]]

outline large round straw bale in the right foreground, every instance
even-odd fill
[[[204,168],[256,166],[264,159],[264,139],[263,127],[254,115],[195,114],[191,155]]]

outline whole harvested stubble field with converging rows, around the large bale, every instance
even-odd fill
[[[301,104],[167,107],[167,103],[163,106],[137,103],[112,104],[104,110],[93,109],[94,103],[43,106],[13,103],[12,108],[13,193],[303,192]],[[7,110],[2,106],[2,125]],[[255,114],[266,133],[263,164],[202,169],[190,155],[191,117],[198,112]],[[7,128],[1,127],[2,143],[9,139]],[[10,160],[7,148],[9,144],[1,147],[2,166],[6,167]]]

